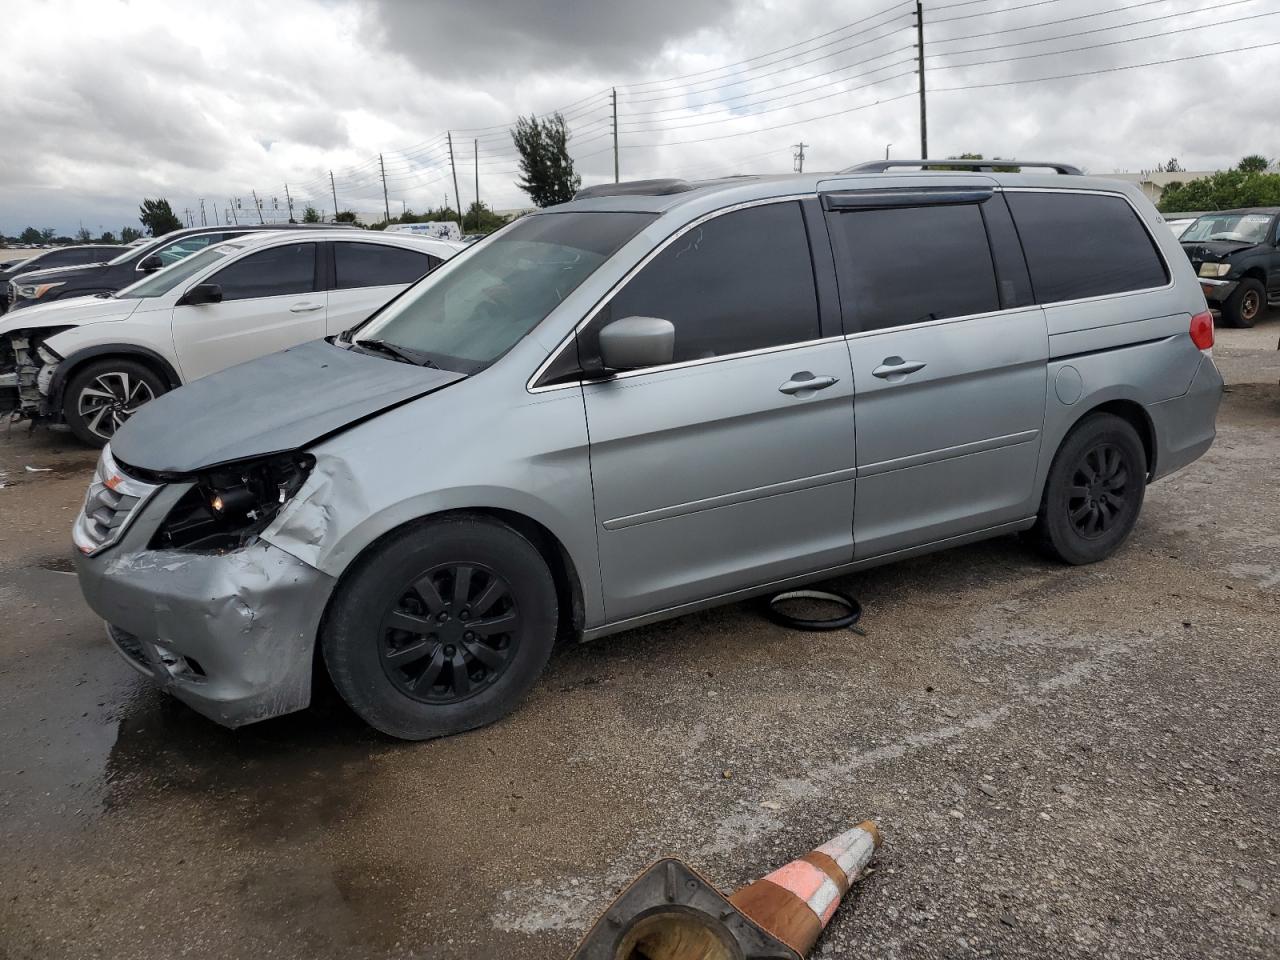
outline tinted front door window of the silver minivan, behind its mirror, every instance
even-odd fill
[[[671,321],[677,364],[818,339],[800,204],[746,207],[682,233],[596,315],[582,353],[596,352],[605,324],[628,316]]]

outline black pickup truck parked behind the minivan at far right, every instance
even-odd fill
[[[1228,326],[1253,326],[1280,306],[1280,207],[1204,214],[1179,239]]]

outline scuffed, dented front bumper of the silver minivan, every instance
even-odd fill
[[[238,727],[301,710],[333,577],[264,540],[150,549],[188,486],[160,488],[100,553],[77,550],[84,599],[134,669],[210,719]]]

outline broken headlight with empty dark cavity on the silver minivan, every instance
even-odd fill
[[[234,550],[262,532],[315,466],[308,453],[232,463],[196,477],[151,539],[152,549]]]

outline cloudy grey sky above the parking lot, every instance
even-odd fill
[[[925,0],[929,148],[1093,173],[1280,155],[1280,0]],[[297,205],[526,204],[506,133],[563,110],[586,183],[919,155],[914,3],[23,0],[0,6],[0,230]],[[1272,46],[1261,46],[1274,44]],[[1083,49],[1088,47],[1088,49]],[[1254,47],[1244,50],[1243,47]],[[1234,51],[1234,52],[1221,52]],[[1201,54],[1216,56],[1170,61]],[[1062,74],[1088,74],[1064,77]],[[1042,79],[1041,78],[1056,78]],[[1041,81],[1041,82],[1029,82]]]

